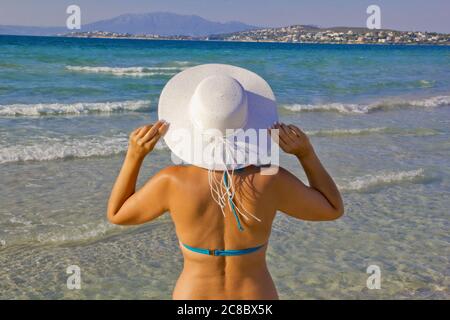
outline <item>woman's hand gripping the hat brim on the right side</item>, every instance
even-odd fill
[[[272,135],[276,132],[273,129],[278,129],[278,144],[284,152],[304,158],[314,151],[306,133],[293,124],[276,122],[270,127]]]

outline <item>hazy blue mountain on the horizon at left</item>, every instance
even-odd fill
[[[70,31],[109,31],[130,34],[158,34],[162,36],[185,35],[207,36],[218,33],[231,33],[257,27],[242,22],[213,22],[196,15],[179,15],[168,12],[144,14],[123,14],[81,26],[81,30],[68,30],[60,27],[22,27],[0,26],[0,34],[15,35],[54,35]]]

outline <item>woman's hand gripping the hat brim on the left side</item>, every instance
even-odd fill
[[[128,145],[128,155],[136,159],[144,159],[153,150],[159,138],[161,138],[169,128],[169,124],[164,120],[159,120],[155,124],[139,127],[130,134]]]

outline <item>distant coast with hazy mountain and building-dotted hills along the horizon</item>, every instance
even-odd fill
[[[78,30],[69,30],[65,25],[54,27],[0,25],[0,34],[139,40],[450,45],[450,33],[427,30],[398,31],[368,29],[365,26],[319,27],[307,24],[269,27],[239,21],[217,22],[198,15],[171,12],[127,13],[83,25],[80,23],[80,27]]]

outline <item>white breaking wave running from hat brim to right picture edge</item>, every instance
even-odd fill
[[[372,104],[325,103],[325,104],[288,104],[281,107],[291,112],[324,112],[367,114],[377,110],[417,107],[435,108],[450,105],[450,96],[436,96],[424,99],[402,100],[391,99]]]

